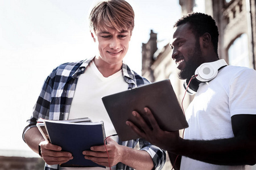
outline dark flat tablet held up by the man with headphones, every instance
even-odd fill
[[[188,127],[169,79],[104,96],[102,101],[121,141],[139,138],[126,125],[126,121],[132,121],[140,127],[131,112],[144,112],[144,107],[151,109],[163,130],[175,131]]]

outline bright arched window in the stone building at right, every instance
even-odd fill
[[[228,49],[229,65],[249,67],[248,37],[243,33]]]

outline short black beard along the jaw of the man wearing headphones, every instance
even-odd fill
[[[199,40],[197,40],[195,49],[192,50],[192,55],[189,57],[189,60],[186,61],[185,69],[180,70],[178,73],[179,79],[190,79],[195,74],[197,67],[199,67],[201,63],[204,63],[203,61],[203,54],[200,49]]]

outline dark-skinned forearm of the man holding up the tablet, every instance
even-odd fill
[[[255,164],[254,142],[245,143],[246,139],[216,139],[212,141],[182,140],[180,150],[175,153],[218,165],[253,165]]]

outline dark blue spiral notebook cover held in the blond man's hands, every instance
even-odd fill
[[[73,159],[61,167],[103,167],[85,159],[82,151],[91,146],[104,145],[105,130],[103,122],[70,123],[44,121],[49,139],[53,145],[61,146],[63,151],[71,152]]]

